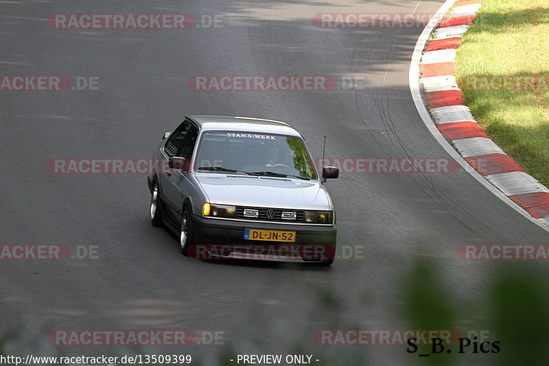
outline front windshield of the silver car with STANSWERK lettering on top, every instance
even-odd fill
[[[303,141],[284,135],[204,133],[195,166],[197,172],[316,179]]]

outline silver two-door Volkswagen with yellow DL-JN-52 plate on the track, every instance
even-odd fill
[[[165,133],[148,176],[150,219],[199,259],[318,262],[336,253],[336,213],[303,137],[284,122],[196,115]]]

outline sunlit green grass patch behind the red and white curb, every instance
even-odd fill
[[[549,185],[549,1],[487,0],[458,48],[456,69],[487,135]],[[496,90],[503,88],[485,82],[497,77],[521,85]]]

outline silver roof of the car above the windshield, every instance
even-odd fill
[[[224,115],[189,115],[187,118],[196,123],[200,130],[243,131],[258,133],[277,133],[302,137],[292,126],[285,122],[252,117],[229,117]]]

